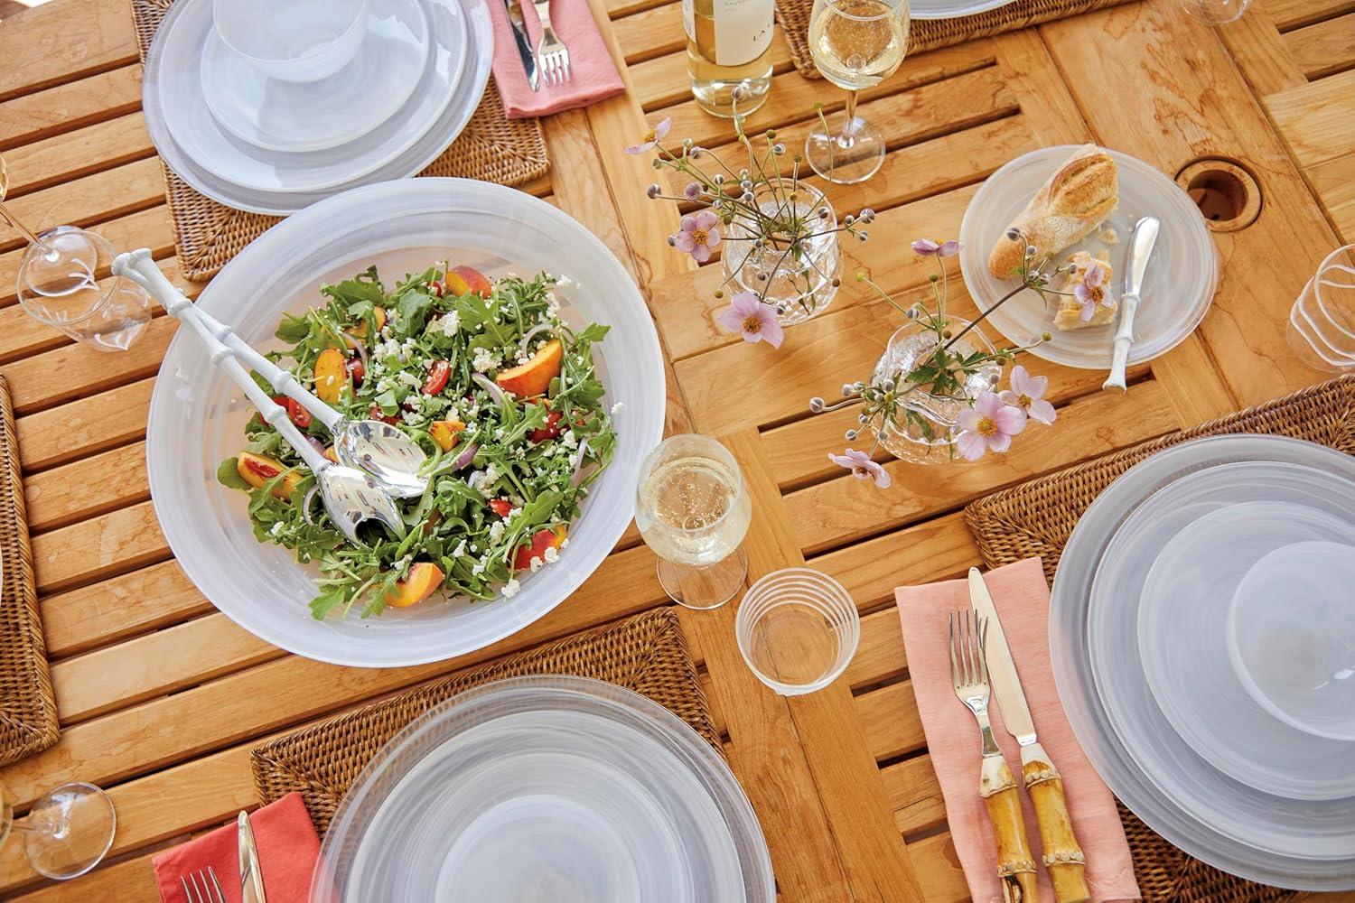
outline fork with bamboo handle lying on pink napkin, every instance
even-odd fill
[[[1005,903],[1035,903],[1035,858],[1026,839],[1016,778],[1003,758],[988,723],[988,665],[984,662],[984,636],[988,624],[973,611],[950,616],[950,680],[955,696],[978,722],[984,745],[984,766],[978,793],[988,807],[988,820],[993,824],[997,843],[997,879]]]

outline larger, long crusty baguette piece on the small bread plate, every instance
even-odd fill
[[[1020,268],[1027,245],[1039,263],[1089,236],[1119,204],[1115,171],[1115,161],[1096,145],[1073,152],[997,240],[988,271],[1007,279]]]

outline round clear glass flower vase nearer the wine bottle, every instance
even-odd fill
[[[757,185],[752,204],[766,219],[743,213],[729,223],[720,255],[725,276],[734,291],[775,305],[782,326],[813,320],[837,294],[837,214],[824,192],[789,179]]]

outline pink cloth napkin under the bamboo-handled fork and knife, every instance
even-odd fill
[[[1138,883],[1134,880],[1125,829],[1115,811],[1115,797],[1077,745],[1054,689],[1054,673],[1049,662],[1049,586],[1039,559],[1027,558],[999,567],[984,574],[984,581],[1001,617],[1012,658],[1016,659],[1039,742],[1064,776],[1064,796],[1073,819],[1073,833],[1087,854],[1087,885],[1092,900],[1138,899]],[[955,699],[950,682],[946,616],[970,607],[969,585],[963,579],[951,579],[924,586],[900,586],[894,590],[894,598],[904,625],[904,647],[917,697],[917,713],[927,734],[927,750],[946,800],[946,819],[969,881],[969,892],[974,900],[1000,902],[997,852],[988,810],[978,796],[978,724]],[[993,735],[1019,784],[1020,747],[1003,727],[996,699],[988,713]],[[1042,852],[1035,810],[1024,788],[1019,793],[1026,816],[1026,835],[1038,862]],[[1041,866],[1038,873],[1042,899],[1053,900],[1054,891],[1047,872]]]

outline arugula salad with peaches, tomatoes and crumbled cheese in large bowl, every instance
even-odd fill
[[[404,536],[371,523],[352,543],[297,451],[262,417],[245,422],[217,479],[249,494],[259,542],[318,567],[313,617],[511,598],[523,575],[560,559],[617,443],[592,353],[608,328],[568,326],[560,283],[438,261],[388,284],[371,265],[283,314],[274,363],[344,417],[392,424],[428,455],[424,493],[397,500]],[[318,420],[275,401],[337,460]]]

